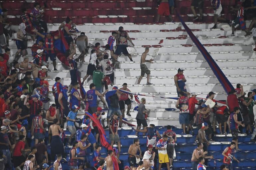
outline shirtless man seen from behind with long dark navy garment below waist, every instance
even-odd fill
[[[49,134],[52,134],[51,157],[54,158],[56,154],[62,154],[63,159],[65,159],[65,149],[59,134],[59,132],[63,133],[63,130],[60,125],[58,125],[59,119],[54,119],[53,123],[54,124],[50,126],[48,132]]]

